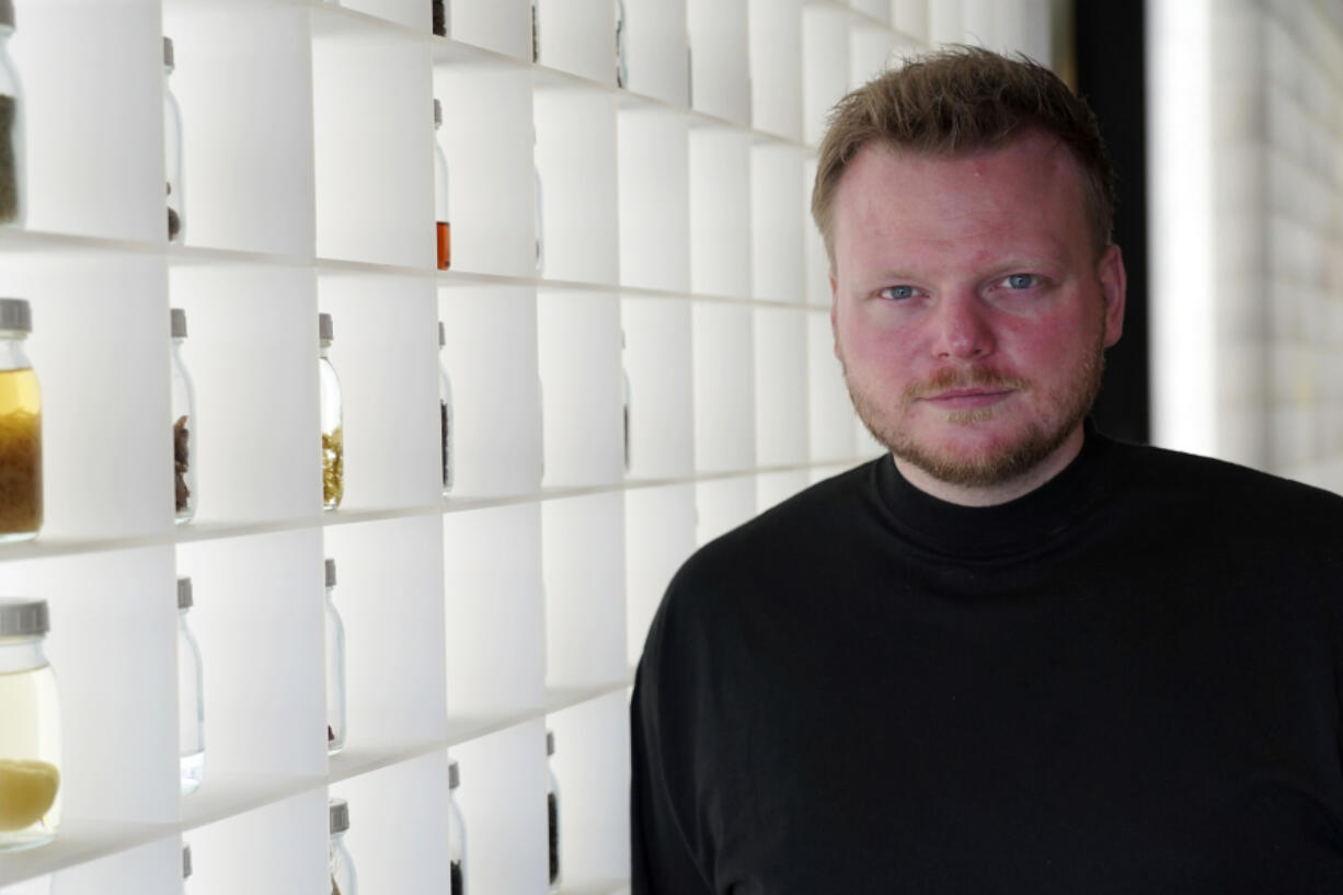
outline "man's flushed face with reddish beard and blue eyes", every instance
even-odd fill
[[[1034,132],[952,157],[869,144],[850,163],[835,355],[902,470],[994,489],[1076,456],[1124,316],[1119,250],[1096,259],[1082,196],[1072,155]]]

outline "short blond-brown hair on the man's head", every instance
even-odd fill
[[[1026,129],[1057,137],[1082,175],[1097,257],[1111,242],[1115,169],[1091,108],[1049,69],[955,46],[907,60],[841,99],[821,141],[811,216],[834,266],[834,198],[849,163],[869,142],[955,156],[1002,146]]]

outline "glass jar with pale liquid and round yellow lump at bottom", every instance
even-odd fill
[[[0,599],[0,851],[60,825],[60,695],[43,649],[47,601]]]

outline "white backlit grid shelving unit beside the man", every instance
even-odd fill
[[[0,294],[32,304],[47,516],[35,543],[0,547],[0,594],[51,603],[66,822],[0,855],[0,892],[176,894],[188,841],[195,895],[325,895],[330,796],[349,801],[364,891],[446,891],[451,751],[473,891],[540,894],[547,728],[565,891],[618,891],[627,691],[667,578],[876,453],[830,352],[814,144],[855,79],[928,44],[941,0],[626,0],[627,89],[611,0],[539,0],[537,63],[528,0],[453,0],[449,38],[423,0],[15,5],[30,211],[0,231]],[[163,35],[184,118],[172,246]],[[180,528],[169,306],[187,310],[200,421],[199,513]],[[318,312],[345,398],[328,513]],[[334,758],[324,556],[348,637]],[[188,797],[177,575],[205,671]]]

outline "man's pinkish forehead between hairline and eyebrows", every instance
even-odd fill
[[[838,266],[865,249],[1089,246],[1080,167],[1038,132],[951,156],[868,144],[849,163],[833,210]]]

